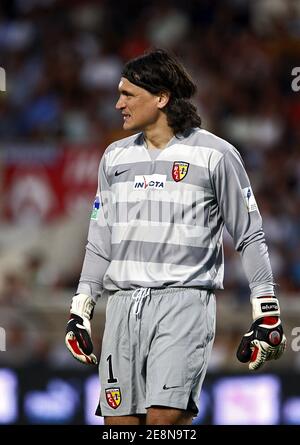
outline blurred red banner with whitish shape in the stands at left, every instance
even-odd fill
[[[4,147],[4,218],[48,222],[91,208],[102,153],[83,145]]]

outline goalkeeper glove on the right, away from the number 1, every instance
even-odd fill
[[[267,360],[281,357],[286,348],[286,337],[277,298],[253,298],[252,308],[254,321],[243,336],[236,355],[240,362],[249,362],[249,369],[254,371]]]

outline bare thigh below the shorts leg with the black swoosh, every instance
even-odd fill
[[[147,409],[147,425],[191,425],[193,414],[176,408],[151,406]]]

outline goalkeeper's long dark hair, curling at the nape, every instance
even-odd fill
[[[130,60],[122,76],[152,94],[168,92],[170,99],[162,109],[175,134],[201,126],[201,118],[190,102],[197,87],[185,68],[169,52],[156,49]]]

